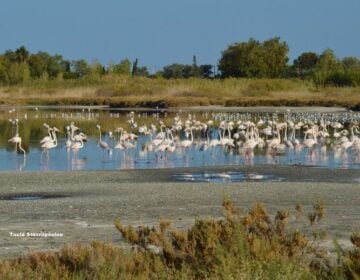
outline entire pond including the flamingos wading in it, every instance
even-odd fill
[[[360,168],[359,113],[22,113],[4,112],[0,120],[0,170]]]

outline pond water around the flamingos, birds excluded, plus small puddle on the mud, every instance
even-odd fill
[[[327,152],[323,153],[320,147],[316,147],[311,153],[306,148],[294,150],[285,149],[277,152],[269,152],[264,149],[254,151],[243,151],[242,149],[229,149],[227,147],[216,146],[206,151],[201,151],[200,144],[192,145],[189,148],[177,147],[174,153],[170,152],[143,152],[142,147],[150,141],[149,135],[139,135],[134,143],[136,148],[128,150],[116,150],[115,138],[110,138],[105,132],[115,129],[118,126],[130,131],[127,120],[129,112],[110,111],[110,110],[84,110],[84,109],[63,109],[63,110],[13,110],[0,112],[0,170],[1,171],[71,171],[71,170],[120,170],[120,169],[147,169],[147,168],[172,168],[172,167],[199,167],[199,166],[226,166],[226,165],[257,165],[257,164],[281,164],[281,165],[305,165],[328,168],[350,168],[359,169],[360,162],[356,158],[354,151],[350,148],[346,151],[334,149],[329,143]],[[261,118],[278,118],[282,116],[261,113],[191,113],[191,118],[206,121],[214,120],[238,120]],[[166,125],[172,122],[174,113],[165,111],[157,112],[135,112],[135,120],[139,126],[142,124],[157,124],[163,120]],[[189,118],[188,113],[181,113],[180,117],[184,120]],[[307,116],[309,117],[309,116]],[[326,117],[330,120],[342,120],[344,123],[358,121],[360,116],[354,114],[312,114],[314,120]],[[9,119],[18,119],[19,135],[22,137],[23,146],[26,150],[26,158],[22,153],[15,151],[14,144],[8,143],[8,139],[14,136],[16,126]],[[305,118],[298,115],[294,118]],[[358,118],[358,119],[357,119]],[[66,130],[65,127],[75,121],[78,127],[89,136],[84,148],[78,152],[67,151],[65,149]],[[43,127],[46,122],[50,126],[57,126],[60,129],[58,135],[58,145],[56,148],[44,152],[39,144],[40,139],[47,135],[47,130]],[[102,134],[111,147],[112,153],[108,153],[98,145],[98,134],[96,124],[100,124],[104,129]],[[137,131],[134,131],[137,133]],[[217,137],[217,130],[212,129],[211,137]],[[181,140],[185,139],[184,133],[180,134]],[[205,140],[205,134],[198,133],[195,141]],[[260,174],[261,175],[261,174]],[[259,175],[259,176],[260,176]],[[205,175],[194,175],[199,180],[217,180],[216,175],[205,178]],[[245,174],[233,174],[230,180],[249,180]],[[194,180],[195,180],[194,179]],[[224,179],[224,178],[222,178]],[[271,179],[271,178],[270,178]],[[221,179],[219,179],[221,180]],[[252,180],[252,179],[250,179]],[[266,180],[266,178],[265,178]]]

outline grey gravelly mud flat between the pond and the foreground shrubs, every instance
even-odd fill
[[[187,183],[175,174],[256,172],[281,182]],[[271,214],[302,203],[310,211],[321,199],[326,215],[321,227],[348,244],[360,230],[360,170],[301,166],[256,166],[137,171],[1,173],[0,258],[34,250],[57,250],[65,243],[93,239],[121,243],[114,219],[125,224],[156,225],[166,218],[178,228],[199,217],[221,217],[229,196],[243,211],[262,202]],[[20,197],[46,198],[18,200]],[[29,198],[29,197],[28,197]],[[63,237],[19,237],[11,233],[61,233]]]

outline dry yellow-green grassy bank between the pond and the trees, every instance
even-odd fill
[[[315,87],[290,79],[149,79],[128,76],[36,80],[0,88],[0,104],[113,107],[344,106],[360,108],[360,88]]]

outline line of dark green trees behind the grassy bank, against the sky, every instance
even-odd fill
[[[198,65],[196,56],[191,64],[174,63],[161,71],[149,73],[136,59],[102,65],[85,59],[66,60],[62,55],[39,51],[30,53],[25,46],[0,54],[0,84],[15,85],[36,79],[81,79],[89,76],[128,75],[176,78],[299,78],[312,80],[318,86],[360,86],[360,60],[356,57],[339,59],[331,49],[322,53],[304,52],[292,63],[289,46],[279,37],[260,42],[249,39],[222,51],[218,71],[215,65]]]

